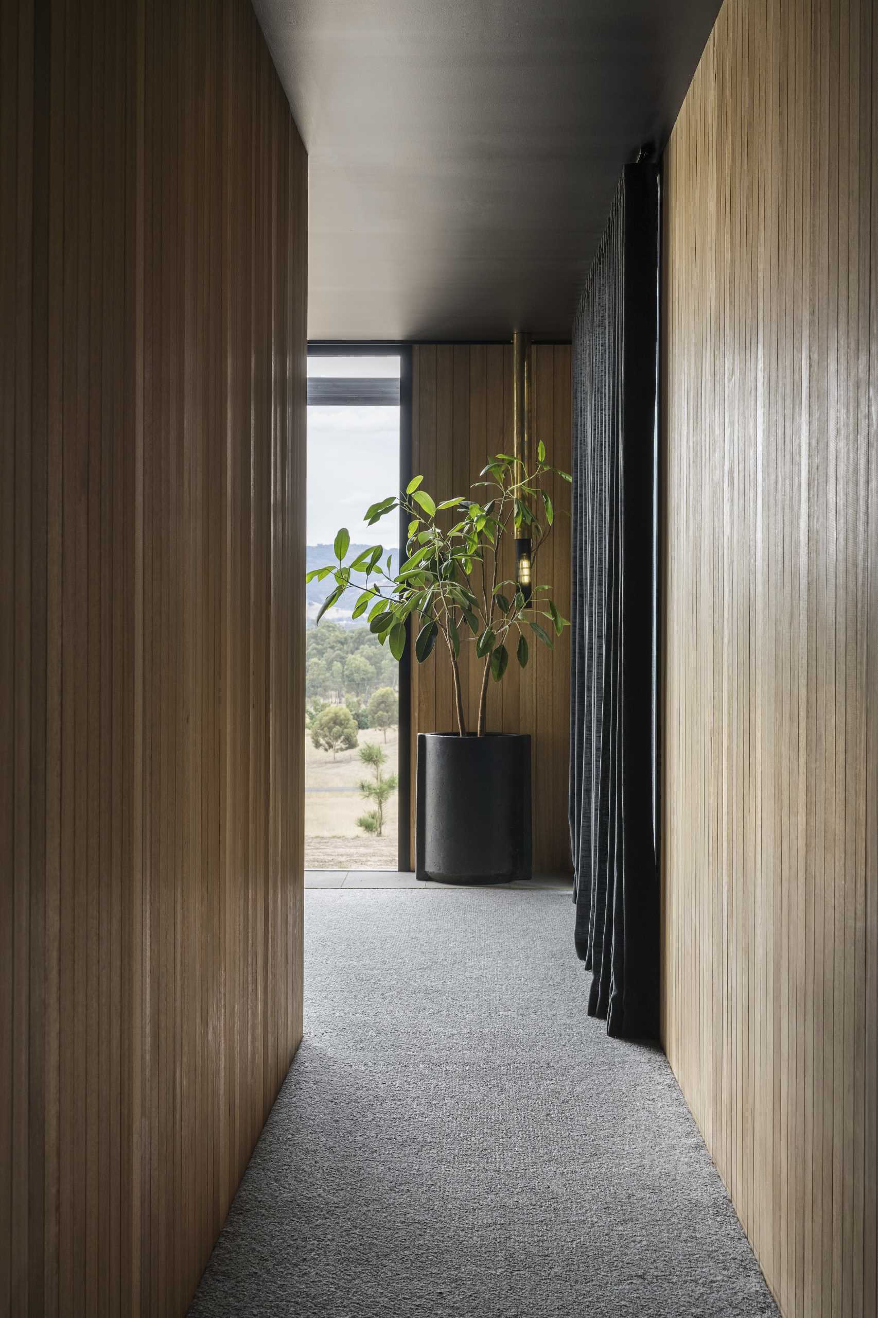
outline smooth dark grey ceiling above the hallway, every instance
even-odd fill
[[[308,336],[567,339],[717,0],[254,0],[308,150]]]

